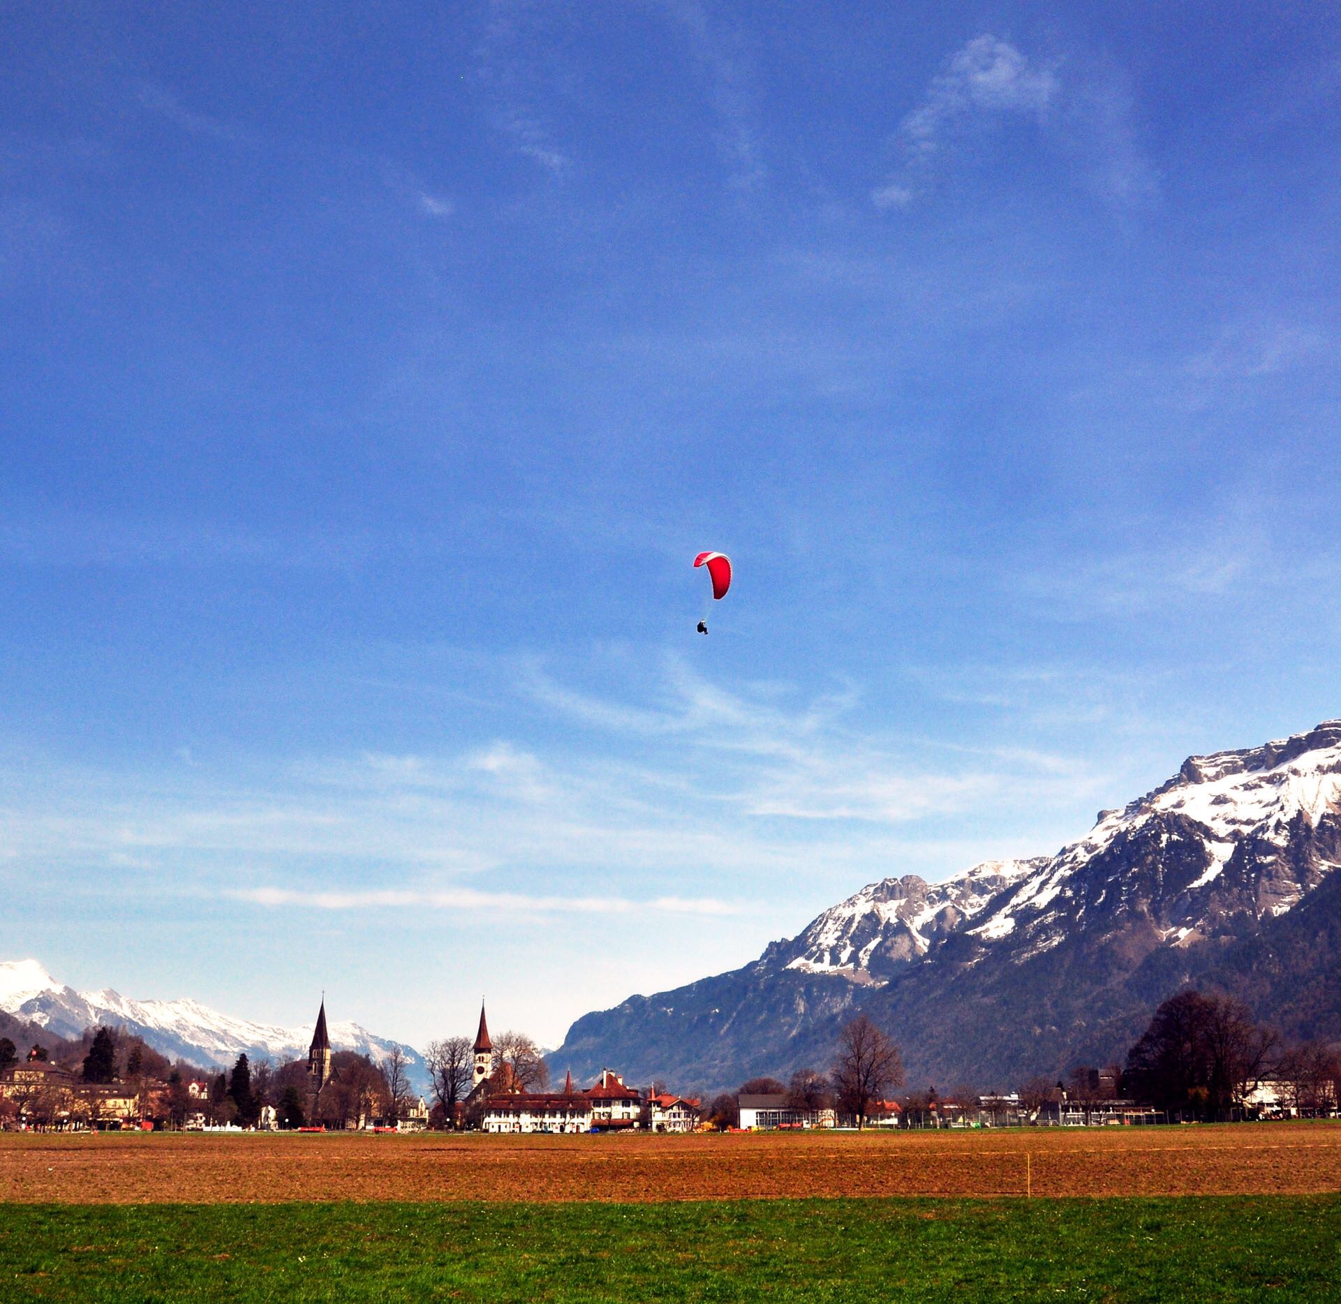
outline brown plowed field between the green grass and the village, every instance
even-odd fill
[[[0,1134],[0,1202],[1341,1191],[1341,1124],[735,1136]]]

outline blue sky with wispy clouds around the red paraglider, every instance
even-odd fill
[[[4,958],[557,1044],[1341,714],[1329,7],[4,13]]]

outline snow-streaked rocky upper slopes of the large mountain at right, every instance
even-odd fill
[[[1168,782],[1101,810],[1055,856],[990,860],[928,884],[881,879],[760,963],[881,986],[951,934],[1021,961],[1070,931],[1147,920],[1189,946],[1232,919],[1289,911],[1341,867],[1341,720],[1259,747],[1188,757]]]

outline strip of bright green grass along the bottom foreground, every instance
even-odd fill
[[[8,1205],[40,1300],[1341,1300],[1341,1197]]]

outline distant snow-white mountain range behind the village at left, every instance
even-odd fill
[[[0,962],[0,1010],[50,1029],[58,1037],[79,1037],[98,1024],[138,1033],[156,1050],[193,1064],[231,1068],[239,1054],[270,1058],[276,1064],[302,1058],[312,1040],[312,1024],[280,1028],[220,1014],[198,1001],[134,1001],[103,987],[75,991],[58,982],[36,961]],[[428,1079],[422,1056],[404,1042],[375,1037],[351,1022],[330,1022],[331,1046],[357,1050],[374,1064],[393,1046],[400,1046],[410,1065],[416,1088],[425,1091]]]

